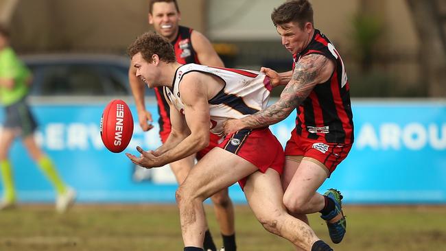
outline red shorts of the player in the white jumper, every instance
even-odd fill
[[[248,160],[262,173],[272,168],[282,174],[285,154],[281,143],[268,128],[240,130],[235,134],[228,134],[218,147]],[[246,178],[239,180],[242,189],[245,184]]]

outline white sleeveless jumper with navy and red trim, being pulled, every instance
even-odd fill
[[[185,64],[178,67],[172,89],[164,87],[169,101],[179,111],[185,108],[181,101],[180,84],[187,73],[198,71],[220,77],[224,88],[209,100],[211,132],[222,135],[222,123],[227,119],[240,119],[266,108],[270,97],[270,79],[258,71],[207,67],[199,64]]]

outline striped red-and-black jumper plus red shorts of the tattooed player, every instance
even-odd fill
[[[331,172],[349,153],[353,143],[353,113],[344,63],[330,40],[318,29],[309,45],[293,55],[294,65],[310,54],[333,60],[336,67],[327,82],[317,84],[296,108],[296,128],[285,155],[316,158]]]

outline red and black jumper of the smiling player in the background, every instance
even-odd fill
[[[179,26],[178,36],[171,43],[175,49],[176,61],[180,64],[196,63],[200,64],[196,51],[193,50],[191,43],[191,34],[193,29],[189,27]],[[170,111],[169,105],[163,94],[163,87],[154,88],[156,101],[158,102],[159,113],[159,130],[161,139],[164,142],[170,133]]]

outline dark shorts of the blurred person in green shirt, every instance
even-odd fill
[[[5,106],[5,123],[3,127],[5,129],[19,129],[21,136],[28,136],[36,130],[36,120],[32,116],[30,107],[26,104],[25,99],[10,106]]]

